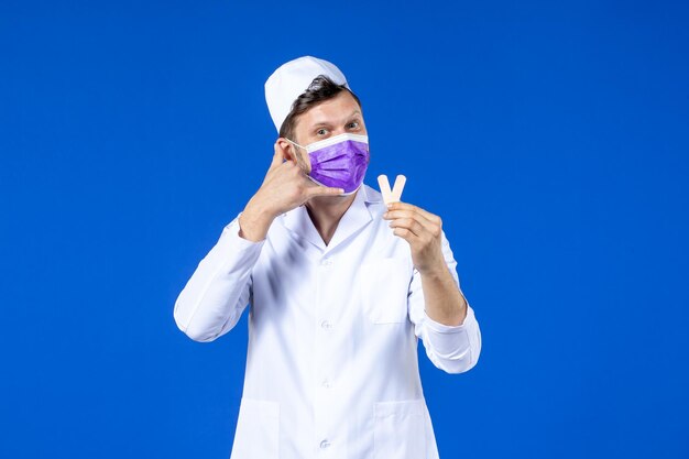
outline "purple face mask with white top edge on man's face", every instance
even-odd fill
[[[340,134],[302,146],[308,152],[311,172],[308,177],[322,186],[342,188],[351,195],[363,183],[369,166],[369,136]]]

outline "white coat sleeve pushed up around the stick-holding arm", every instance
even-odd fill
[[[456,270],[457,262],[445,232],[442,232],[442,254],[461,293]],[[461,295],[463,296],[463,293]],[[481,330],[469,303],[467,302],[467,317],[461,325],[449,326],[433,320],[426,314],[422,277],[416,270],[414,270],[409,286],[408,302],[414,334],[423,340],[426,354],[433,364],[447,373],[462,373],[471,370],[481,353]]]

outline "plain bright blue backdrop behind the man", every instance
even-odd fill
[[[419,354],[441,458],[688,458],[688,6],[555,3],[3,0],[0,457],[229,456],[247,314],[173,305],[310,54],[482,328],[468,373]]]

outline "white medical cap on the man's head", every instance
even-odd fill
[[[294,101],[308,89],[318,75],[325,75],[336,85],[344,85],[349,89],[347,78],[335,64],[311,56],[281,65],[265,81],[265,102],[277,132],[292,111]]]

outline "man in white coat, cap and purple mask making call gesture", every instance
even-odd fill
[[[212,341],[250,305],[231,459],[438,458],[418,338],[448,373],[481,351],[440,218],[363,184],[363,111],[333,64],[291,61],[265,98],[280,133],[265,179],[174,308]]]

